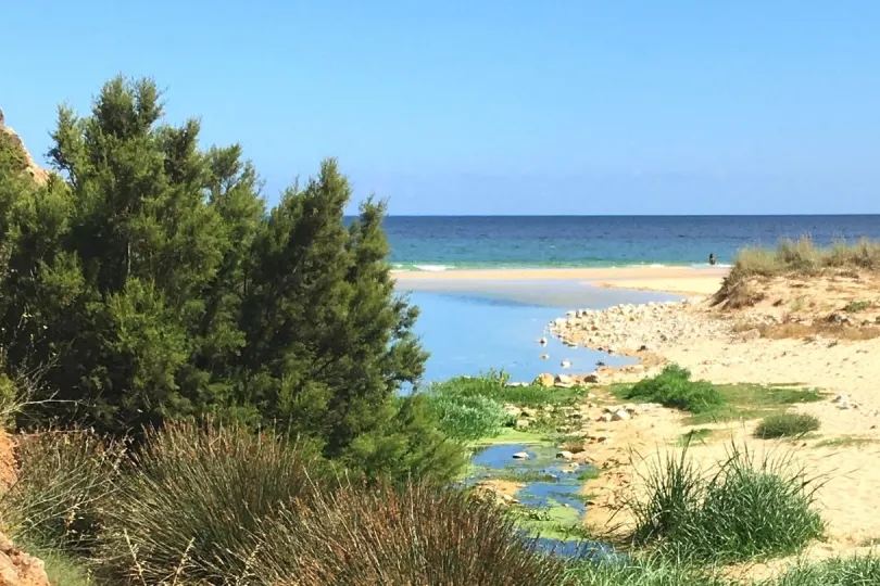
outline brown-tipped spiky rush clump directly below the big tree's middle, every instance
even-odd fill
[[[247,573],[263,523],[309,500],[320,468],[300,447],[240,426],[174,424],[133,457],[98,556],[111,584],[226,584]]]

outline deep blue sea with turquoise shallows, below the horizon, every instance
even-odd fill
[[[880,216],[397,216],[385,229],[405,270],[701,265],[783,237],[880,238]]]

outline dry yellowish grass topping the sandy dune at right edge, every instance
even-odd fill
[[[714,301],[729,308],[754,305],[764,298],[760,289],[755,286],[756,279],[809,277],[825,271],[844,275],[880,271],[880,242],[863,239],[819,247],[805,235],[799,240],[783,239],[776,250],[743,249]]]

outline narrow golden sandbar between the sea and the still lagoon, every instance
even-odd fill
[[[727,268],[626,267],[400,271],[393,276],[398,282],[413,289],[501,281],[569,281],[602,288],[705,296],[718,290],[727,271]]]

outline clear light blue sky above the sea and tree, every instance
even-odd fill
[[[880,213],[880,1],[4,2],[0,107],[37,158],[117,73],[392,214]]]

